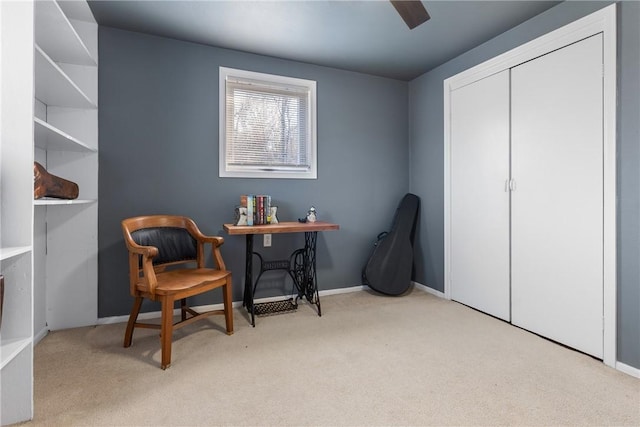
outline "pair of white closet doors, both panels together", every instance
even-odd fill
[[[603,357],[594,35],[451,92],[451,298]]]

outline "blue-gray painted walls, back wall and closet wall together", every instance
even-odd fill
[[[443,80],[607,3],[565,2],[407,84],[308,64],[100,28],[99,316],[127,314],[131,298],[119,222],[151,213],[193,217],[224,235],[244,193],[271,194],[281,220],[314,204],[341,230],[321,233],[321,289],[360,284],[375,235],[406,191],[422,199],[416,280],[444,290]],[[618,359],[640,368],[640,3],[619,5]],[[318,82],[318,180],[218,178],[218,66]],[[408,109],[407,109],[408,104]],[[408,143],[407,143],[408,141]],[[375,202],[372,202],[375,201]],[[286,257],[300,236],[259,249]],[[223,256],[241,299],[244,239]],[[278,273],[259,296],[277,295]],[[202,299],[197,303],[218,302]],[[147,305],[146,310],[157,310]]]

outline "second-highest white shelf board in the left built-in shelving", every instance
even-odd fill
[[[38,45],[35,45],[36,98],[47,105],[98,108]]]

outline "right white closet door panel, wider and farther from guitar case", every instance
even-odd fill
[[[602,35],[514,67],[512,321],[602,358]]]

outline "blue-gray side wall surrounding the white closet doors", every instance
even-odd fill
[[[444,290],[443,81],[610,2],[563,2],[409,84],[410,191],[421,197],[416,281]],[[640,368],[640,3],[618,4],[618,360]]]

